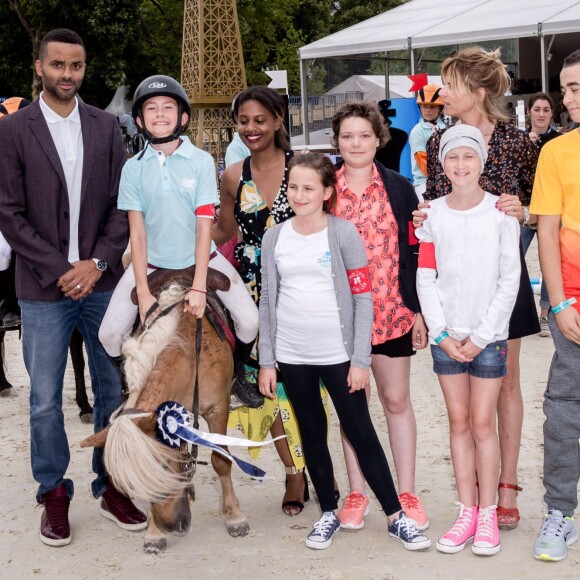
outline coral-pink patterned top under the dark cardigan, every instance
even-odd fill
[[[337,172],[334,214],[352,222],[363,239],[373,296],[372,344],[407,334],[415,314],[404,304],[399,288],[399,243],[397,220],[376,165],[371,183],[358,197],[346,183],[345,166]]]

